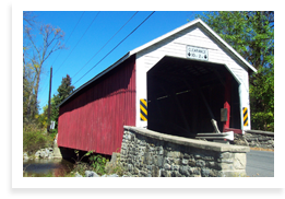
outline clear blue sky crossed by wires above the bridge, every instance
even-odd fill
[[[105,46],[105,48],[92,59],[92,57],[112,37],[115,33],[117,33],[117,31],[120,30],[120,27],[134,13],[135,11],[34,12],[34,14],[37,15],[36,20],[38,22],[43,24],[51,24],[55,27],[60,27],[66,33],[64,43],[67,47],[67,49],[54,52],[44,63],[44,72],[40,77],[38,93],[38,101],[40,102],[39,113],[43,113],[43,106],[47,105],[48,103],[50,66],[52,65],[51,95],[54,96],[54,94],[57,93],[58,86],[61,84],[62,78],[69,74],[72,79],[72,83],[75,83],[120,40],[122,40],[130,32],[132,32],[145,17],[147,17],[152,11],[139,11],[133,16],[133,19]],[[193,20],[195,14],[202,14],[202,12],[156,11],[131,36],[129,36],[106,59],[104,59],[104,61],[97,65],[80,81],[78,81],[74,84],[75,89],[116,62],[128,51],[186,24],[188,22],[187,20]],[[96,15],[97,17],[94,20]],[[93,20],[94,22],[92,23]],[[79,24],[72,33],[78,22]],[[90,28],[87,30],[88,26]],[[87,32],[83,36],[86,30]],[[40,35],[36,36],[40,39]],[[80,40],[81,37],[82,39]],[[80,43],[78,43],[79,40]],[[87,63],[87,61],[90,62]],[[84,68],[81,69],[82,67]]]

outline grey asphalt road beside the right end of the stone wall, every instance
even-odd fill
[[[250,150],[246,172],[249,177],[274,177],[274,152]]]

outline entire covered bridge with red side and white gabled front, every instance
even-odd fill
[[[110,155],[123,126],[193,138],[250,129],[257,70],[200,19],[134,50],[59,105],[58,145]],[[213,119],[216,125],[213,125]]]

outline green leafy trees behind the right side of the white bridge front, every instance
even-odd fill
[[[252,128],[274,131],[274,12],[205,12],[197,15],[249,61]]]

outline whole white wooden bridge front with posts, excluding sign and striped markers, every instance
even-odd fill
[[[188,45],[207,49],[209,62],[224,65],[231,72],[239,83],[240,118],[242,107],[248,108],[249,122],[245,127],[241,124],[241,129],[251,129],[248,72],[257,70],[200,19],[130,51],[130,56],[136,55],[136,127],[147,126],[147,121],[140,120],[140,98],[147,98],[146,72],[165,56],[187,59]]]

